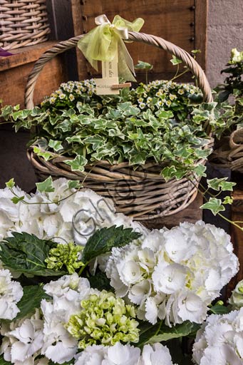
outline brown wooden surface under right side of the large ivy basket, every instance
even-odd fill
[[[145,227],[149,228],[150,230],[155,228],[160,230],[162,227],[175,227],[182,222],[195,223],[197,220],[202,220],[202,210],[200,209],[202,204],[202,195],[197,194],[196,199],[187,208],[183,209],[177,214],[144,221],[143,225],[145,225]]]

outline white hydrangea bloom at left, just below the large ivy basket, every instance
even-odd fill
[[[28,232],[41,239],[56,242],[71,242],[85,245],[95,230],[112,225],[133,227],[139,232],[148,232],[142,225],[133,222],[122,213],[115,213],[110,199],[100,197],[92,190],[76,192],[68,188],[68,180],[53,181],[54,192],[36,192],[28,195],[14,187],[13,192],[24,197],[24,202],[14,204],[9,188],[0,190],[0,240],[11,231]],[[64,199],[66,197],[66,199]],[[56,237],[56,238],[55,238]]]

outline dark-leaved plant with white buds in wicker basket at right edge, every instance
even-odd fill
[[[215,88],[216,101],[222,106],[222,118],[219,120],[217,143],[210,155],[210,163],[221,168],[242,173],[243,171],[243,51],[232,49],[224,83]]]

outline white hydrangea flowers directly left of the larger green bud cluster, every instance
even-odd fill
[[[38,355],[62,364],[71,361],[77,353],[78,341],[68,333],[64,324],[72,314],[80,312],[81,300],[94,289],[88,279],[78,277],[78,274],[65,275],[46,284],[43,289],[53,299],[42,299],[41,310],[36,309],[31,317],[1,326],[4,339],[0,353],[15,365],[36,365]],[[44,359],[42,361],[46,361]]]

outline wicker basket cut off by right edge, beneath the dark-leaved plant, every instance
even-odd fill
[[[243,128],[219,140],[209,160],[215,167],[243,173]]]

